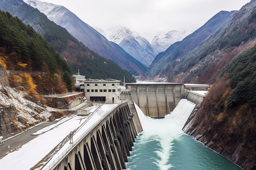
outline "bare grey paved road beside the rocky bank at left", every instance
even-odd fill
[[[31,135],[36,131],[45,128],[46,126],[56,124],[57,121],[53,122],[44,122],[40,125],[35,126],[34,128],[28,129],[19,135],[16,135],[13,138],[8,139],[5,141],[4,145],[0,146],[0,158],[2,158],[7,152],[13,150],[14,148],[24,145],[25,143],[31,141],[32,139],[36,138],[38,135]],[[10,146],[10,148],[8,147]]]

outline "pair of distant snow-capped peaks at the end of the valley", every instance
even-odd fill
[[[120,45],[127,53],[137,58],[146,66],[150,66],[156,54],[163,52],[171,44],[182,40],[187,35],[184,31],[169,31],[167,33],[159,32],[152,37],[151,40],[148,40],[130,28],[120,25],[106,30],[100,28],[96,28],[96,30],[104,35],[109,41],[113,41]]]

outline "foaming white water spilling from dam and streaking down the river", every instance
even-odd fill
[[[143,128],[142,143],[152,140],[160,143],[160,150],[155,151],[159,159],[154,162],[160,169],[172,167],[171,164],[168,164],[172,152],[172,141],[183,134],[182,128],[194,107],[195,104],[182,99],[171,114],[167,114],[164,119],[154,119],[144,116],[141,109],[135,105]]]

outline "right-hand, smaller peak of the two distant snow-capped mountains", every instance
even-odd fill
[[[188,35],[185,31],[170,31],[167,33],[159,32],[151,41],[155,52],[164,52],[170,45],[183,40]]]

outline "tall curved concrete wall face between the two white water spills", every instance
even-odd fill
[[[130,98],[146,116],[161,118],[173,111],[184,96],[181,83],[129,83]],[[121,94],[121,97],[129,97]]]

